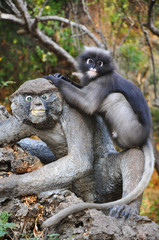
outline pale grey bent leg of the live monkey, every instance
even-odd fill
[[[142,135],[143,126],[123,94],[109,94],[101,104],[100,112],[104,113],[110,134],[122,148],[133,146]]]

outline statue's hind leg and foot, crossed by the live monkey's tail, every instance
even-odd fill
[[[121,173],[123,181],[122,197],[127,196],[139,183],[144,170],[144,155],[141,150],[130,149],[123,152],[121,159]],[[129,205],[117,205],[111,208],[109,215],[112,217],[123,217],[125,219],[138,218],[142,195]]]

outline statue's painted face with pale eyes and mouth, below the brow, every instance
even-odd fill
[[[50,128],[57,122],[62,104],[57,92],[45,92],[41,95],[25,93],[12,99],[13,114],[35,128]]]

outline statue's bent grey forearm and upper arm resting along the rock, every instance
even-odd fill
[[[89,174],[93,161],[91,122],[65,106],[61,124],[68,142],[68,155],[31,173],[0,179],[1,201],[13,196],[67,187]],[[88,141],[83,144],[86,133]]]

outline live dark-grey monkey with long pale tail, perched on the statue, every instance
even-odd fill
[[[110,53],[106,50],[87,47],[79,55],[78,64],[83,73],[82,86],[58,74],[46,78],[58,87],[71,106],[87,114],[100,114],[113,141],[119,147],[122,149],[140,147],[144,153],[145,167],[139,184],[126,197],[104,204],[73,205],[53,216],[51,225],[71,213],[87,208],[105,210],[117,204],[132,202],[143,193],[154,168],[153,149],[149,140],[152,127],[151,114],[140,89],[115,71]]]

